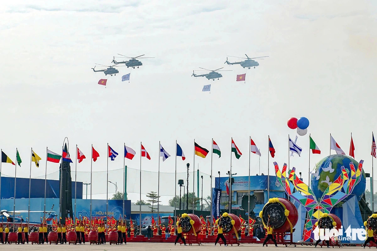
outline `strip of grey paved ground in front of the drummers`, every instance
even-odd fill
[[[342,247],[343,249],[347,249],[349,251],[359,249],[361,250],[362,247]],[[237,250],[237,251],[261,251],[261,250],[271,250],[271,249],[283,249],[289,251],[320,251],[324,250],[320,247],[314,248],[314,246],[296,246],[296,247],[288,247],[280,245],[279,247],[274,247],[274,245],[268,245],[268,247],[262,247],[261,244],[244,244],[240,246],[214,246],[213,244],[210,245],[209,243],[205,243],[202,246],[179,246],[177,244],[174,246],[173,243],[140,243],[140,242],[130,242],[127,245],[1,245],[1,251],[9,251],[9,250],[20,250],[20,251],[39,251],[39,250],[48,250],[48,251],[91,251],[91,250],[100,250],[100,251],[110,251],[110,250],[127,250],[127,251],[170,251],[170,250],[203,250],[203,251],[224,251],[224,250]],[[320,249],[320,250],[318,250]],[[367,248],[368,249],[368,248]],[[335,249],[331,249],[334,250]],[[373,250],[373,249],[368,249]]]

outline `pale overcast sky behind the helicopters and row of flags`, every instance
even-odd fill
[[[19,173],[28,177],[30,148],[45,160],[46,146],[60,152],[64,137],[72,158],[76,144],[86,155],[78,165],[83,171],[90,170],[91,144],[101,155],[95,171],[106,170],[107,142],[120,155],[124,142],[135,149],[126,164],[138,169],[140,141],[152,158],[143,158],[142,169],[156,171],[158,141],[174,156],[178,140],[187,157],[177,159],[178,170],[185,172],[194,138],[210,150],[213,137],[222,152],[213,170],[225,174],[233,137],[243,154],[239,160],[233,155],[233,172],[247,175],[249,136],[261,148],[261,172],[267,173],[270,135],[274,175],[272,162],[288,162],[288,134],[296,135],[287,120],[305,116],[322,151],[311,155],[311,169],[329,154],[330,132],[346,153],[352,132],[356,160],[364,159],[371,172],[376,12],[373,1],[7,1],[0,11],[0,147],[12,160],[18,147]],[[132,69],[130,83],[121,82],[127,67],[116,76],[90,69],[110,64],[116,53],[155,58]],[[269,57],[247,71],[224,65],[227,55],[245,53]],[[233,71],[208,81],[191,76],[198,67]],[[246,83],[236,82],[242,73]],[[97,84],[101,78],[108,79],[107,88]],[[206,84],[210,93],[202,92]],[[297,140],[301,157],[291,158],[305,182],[308,134]],[[209,157],[195,164],[208,174]],[[44,174],[43,160],[39,169],[33,164],[32,176]],[[122,166],[121,156],[109,163],[109,169]],[[161,161],[161,172],[174,166],[174,157]],[[251,173],[257,168],[258,156],[251,155]],[[48,173],[57,169],[48,164]],[[3,173],[12,175],[14,167],[3,164]]]

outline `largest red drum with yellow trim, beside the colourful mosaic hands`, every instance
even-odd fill
[[[285,233],[291,231],[298,219],[299,213],[297,208],[288,199],[271,198],[264,205],[259,216],[262,216],[262,222],[267,225],[270,217],[270,224],[276,233]]]

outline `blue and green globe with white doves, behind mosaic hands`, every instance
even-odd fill
[[[358,166],[359,163],[351,157],[346,155],[330,155],[320,160],[313,171],[315,173],[311,175],[310,187],[317,199],[322,198],[323,192],[342,174],[342,166],[351,172],[349,163],[353,163],[354,166]],[[365,173],[363,170],[360,176],[359,183],[354,187],[350,196],[343,199],[348,200],[352,195],[356,195],[357,201],[363,197],[365,192]],[[338,204],[339,205],[339,204]]]

